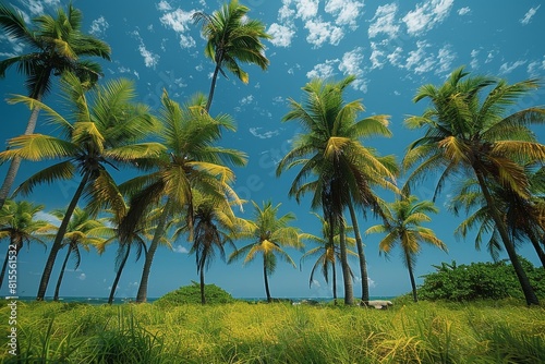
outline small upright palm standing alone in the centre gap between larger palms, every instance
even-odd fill
[[[249,238],[253,241],[231,253],[228,263],[232,263],[241,257],[244,257],[242,264],[246,265],[252,262],[257,254],[263,255],[265,293],[267,295],[267,302],[271,302],[272,299],[270,296],[268,277],[275,272],[277,255],[296,268],[293,259],[282,247],[302,248],[303,244],[301,242],[299,229],[288,226],[290,221],[295,219],[295,216],[288,213],[277,217],[278,209],[281,204],[272,206],[270,201],[263,203],[263,207],[259,207],[254,202],[252,202],[252,204],[254,205],[255,211],[255,227]]]

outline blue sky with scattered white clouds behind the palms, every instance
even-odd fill
[[[14,0],[26,19],[43,12],[52,12],[68,1]],[[75,0],[73,4],[83,11],[84,31],[107,41],[112,48],[112,61],[102,62],[105,80],[128,77],[134,80],[142,101],[156,109],[162,89],[179,102],[196,92],[207,93],[214,65],[203,56],[205,41],[199,27],[192,24],[195,11],[211,13],[222,1],[143,1],[129,0],[88,1]],[[409,114],[420,114],[425,102],[413,104],[416,89],[427,83],[441,84],[456,68],[465,65],[472,74],[486,74],[518,82],[545,75],[545,8],[541,1],[371,1],[371,0],[282,0],[241,1],[261,20],[274,36],[265,41],[270,66],[263,72],[257,66],[245,66],[250,83],[242,84],[234,76],[219,78],[210,113],[225,112],[233,116],[237,133],[226,133],[221,145],[237,147],[249,154],[245,168],[237,169],[235,191],[242,198],[261,204],[271,199],[281,203],[281,213],[296,215],[295,226],[303,231],[318,234],[317,219],[310,214],[310,204],[303,199],[298,205],[288,197],[292,173],[275,177],[276,162],[290,149],[298,133],[294,122],[282,123],[288,112],[288,98],[300,100],[301,87],[312,77],[356,75],[353,87],[346,94],[347,100],[362,99],[366,114],[391,116],[391,138],[364,141],[382,155],[395,154],[398,160],[417,132],[403,128]],[[26,49],[0,34],[0,58],[25,52]],[[10,106],[3,100],[9,94],[25,94],[23,78],[15,70],[0,80],[1,139],[22,134],[29,112],[23,106]],[[59,95],[51,94],[46,104],[55,107]],[[521,107],[545,104],[545,89],[521,100]],[[41,119],[43,120],[43,119]],[[37,132],[45,132],[39,126]],[[540,141],[543,129],[535,129]],[[17,182],[29,177],[46,163],[26,162]],[[0,166],[0,178],[7,166]],[[128,173],[117,174],[119,182]],[[26,197],[46,205],[46,209],[65,207],[75,191],[77,181],[59,182],[37,189]],[[476,252],[473,236],[467,241],[455,239],[453,230],[461,221],[446,211],[449,185],[437,199],[441,213],[429,225],[449,248],[446,254],[424,246],[416,262],[415,275],[433,271],[433,264],[456,260],[458,264],[489,260],[486,252]],[[415,195],[431,198],[433,181],[417,186]],[[250,206],[241,216],[251,218]],[[374,225],[373,219],[361,219],[362,230]],[[379,235],[365,238],[368,262],[371,295],[399,295],[410,291],[407,269],[399,252],[389,259],[379,256]],[[191,280],[198,280],[193,256],[187,256],[189,243],[173,242],[173,251],[160,248],[154,260],[148,296],[160,296]],[[239,243],[239,244],[242,244]],[[7,245],[7,244],[3,244]],[[312,245],[308,248],[313,247]],[[299,263],[301,253],[290,252]],[[90,251],[82,256],[77,270],[66,272],[61,295],[106,296],[113,281],[116,246],[101,257]],[[529,245],[521,254],[537,264]],[[59,255],[58,265],[60,266]],[[35,295],[47,252],[33,246],[21,252],[19,265],[20,295]],[[270,278],[274,296],[331,296],[324,279],[316,275],[308,288],[308,260],[302,269],[279,263]],[[356,262],[352,262],[356,267]],[[117,296],[135,296],[142,272],[143,259],[130,262],[119,284]],[[259,264],[242,267],[240,263],[226,265],[216,260],[206,274],[208,283],[216,283],[234,296],[264,296],[264,283]],[[52,294],[58,270],[52,275],[48,295]],[[422,280],[419,279],[419,282]],[[341,286],[339,286],[341,287]],[[360,294],[359,277],[354,293]],[[339,292],[342,294],[342,292]],[[0,294],[7,294],[5,287]]]

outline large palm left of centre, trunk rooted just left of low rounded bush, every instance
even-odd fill
[[[193,239],[193,189],[218,198],[230,198],[240,205],[241,201],[230,186],[234,173],[225,163],[243,166],[246,162],[243,153],[215,145],[223,129],[234,131],[235,128],[227,114],[211,118],[204,112],[206,98],[203,95],[196,95],[181,108],[165,92],[161,102],[159,119],[164,129],[158,136],[166,151],[158,157],[140,159],[138,166],[148,168],[150,173],[120,185],[123,194],[131,196],[131,207],[120,227],[122,240],[138,227],[150,208],[161,207],[146,253],[136,302],[146,301],[155,252],[166,227],[177,214],[186,213],[190,240]]]

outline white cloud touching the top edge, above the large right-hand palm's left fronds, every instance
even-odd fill
[[[410,35],[422,35],[441,23],[449,14],[455,0],[426,0],[403,16]]]

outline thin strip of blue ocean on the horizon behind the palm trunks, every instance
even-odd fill
[[[5,298],[8,299],[8,298]],[[148,298],[147,302],[153,303],[154,301],[157,301],[159,298]],[[240,301],[247,301],[247,302],[261,302],[261,301],[267,301],[266,298],[234,298],[235,300]],[[293,303],[301,303],[301,302],[316,302],[316,303],[327,303],[332,301],[332,298],[275,298],[281,301],[291,301]],[[356,299],[356,298],[354,298]],[[370,300],[392,300],[395,296],[371,296]],[[46,296],[45,301],[52,301],[53,298]],[[36,301],[35,296],[20,296],[17,298],[17,301],[22,302],[33,302]],[[100,304],[107,304],[108,303],[108,298],[85,298],[85,296],[66,296],[66,298],[60,298],[60,302],[66,302],[66,303],[88,303],[93,305],[100,305]],[[113,300],[113,304],[123,304],[123,303],[130,303],[134,302],[135,298],[116,298]]]

